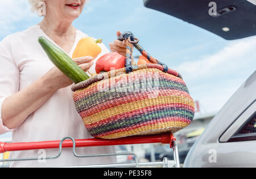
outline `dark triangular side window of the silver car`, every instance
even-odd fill
[[[244,123],[229,142],[256,140],[256,112]]]

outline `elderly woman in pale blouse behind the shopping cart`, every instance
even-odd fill
[[[42,22],[26,31],[7,36],[0,42],[0,134],[13,131],[13,142],[60,140],[71,136],[91,138],[72,100],[72,82],[49,61],[38,43],[45,36],[53,44],[72,56],[77,42],[88,37],[72,26],[81,14],[85,0],[30,0],[37,10],[38,3],[46,7]],[[119,35],[120,32],[117,32]],[[110,43],[113,52],[124,54],[125,45],[115,40]],[[102,56],[109,50],[100,45]],[[73,59],[84,71],[93,72],[97,59]],[[79,155],[115,152],[113,147],[77,149]],[[10,158],[56,156],[58,150],[11,152]],[[11,167],[62,167],[113,163],[115,157],[77,159],[72,149],[64,149],[56,160],[38,160],[11,163]]]

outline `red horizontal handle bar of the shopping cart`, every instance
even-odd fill
[[[94,146],[117,146],[126,144],[143,144],[143,143],[163,143],[170,144],[176,140],[171,133],[159,135],[144,135],[126,137],[120,139],[77,139],[76,147],[94,147]],[[26,143],[3,143],[0,142],[0,154],[7,151],[24,151],[24,150],[39,150],[48,148],[59,148],[60,140],[46,142],[26,142]],[[72,140],[64,140],[63,148],[73,147]]]

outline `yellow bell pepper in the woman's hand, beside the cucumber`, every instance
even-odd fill
[[[98,43],[102,43],[102,39],[94,40],[92,37],[83,38],[79,41],[72,58],[90,56],[96,58],[101,53]]]

